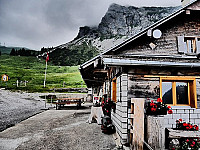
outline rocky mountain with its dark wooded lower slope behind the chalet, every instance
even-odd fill
[[[79,33],[74,40],[51,50],[52,58],[55,59],[53,62],[57,63],[58,61],[62,61],[57,63],[61,65],[77,65],[84,63],[98,53],[114,47],[179,8],[180,7],[138,8],[134,6],[125,7],[112,4],[99,25],[96,27],[80,27]],[[68,56],[70,54],[74,56]],[[66,56],[66,59],[64,56]]]

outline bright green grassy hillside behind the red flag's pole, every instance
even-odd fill
[[[36,57],[0,56],[0,75],[7,74],[10,80],[2,82],[1,87],[8,89],[42,92],[51,88],[86,87],[78,70],[78,66],[55,66],[48,62],[46,87],[43,87],[45,60]],[[17,88],[16,81],[20,81]],[[24,81],[27,81],[25,87]]]

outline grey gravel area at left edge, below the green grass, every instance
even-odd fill
[[[0,131],[42,112],[45,101],[39,95],[0,89]]]

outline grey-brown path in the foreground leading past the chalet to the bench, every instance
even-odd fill
[[[69,107],[70,108],[70,107]],[[90,108],[48,110],[0,132],[1,150],[109,150],[112,135],[86,123]]]

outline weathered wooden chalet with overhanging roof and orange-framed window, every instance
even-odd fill
[[[82,64],[80,72],[93,93],[102,90],[116,103],[111,119],[122,144],[132,142],[131,134],[139,124],[133,121],[134,99],[145,102],[161,98],[171,105],[173,114],[161,116],[163,130],[175,128],[180,118],[200,125],[200,1],[186,4]],[[134,111],[143,112],[139,108]],[[149,125],[143,118],[141,125],[146,128]],[[149,141],[147,131],[142,132],[139,137],[152,147],[159,141]],[[157,149],[163,148],[160,145]]]

